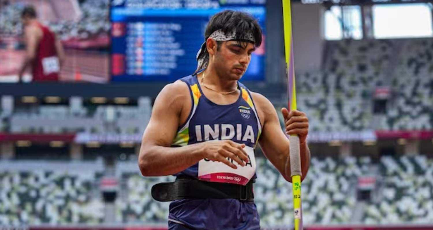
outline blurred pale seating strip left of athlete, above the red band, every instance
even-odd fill
[[[95,109],[84,107],[78,111],[72,111],[62,105],[41,105],[32,111],[17,109],[10,116],[1,117],[4,124],[0,127],[9,132],[141,134],[150,119],[150,113],[150,104],[149,106],[100,105]],[[8,120],[10,120],[9,124],[6,123]],[[66,123],[65,120],[68,122]]]

